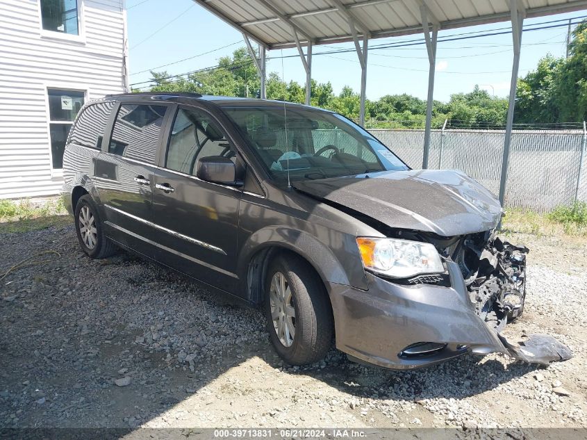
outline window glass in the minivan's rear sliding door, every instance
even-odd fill
[[[120,106],[108,152],[136,161],[155,163],[166,106]]]

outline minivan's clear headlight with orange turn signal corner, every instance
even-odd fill
[[[365,269],[395,278],[444,272],[440,255],[430,243],[397,238],[356,239]]]

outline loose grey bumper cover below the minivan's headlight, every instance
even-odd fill
[[[447,263],[451,287],[394,284],[367,274],[369,291],[330,284],[336,347],[348,355],[387,368],[417,368],[472,351],[507,352],[475,313],[456,263]],[[405,356],[415,343],[436,343],[441,350]]]

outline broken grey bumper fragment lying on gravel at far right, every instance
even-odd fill
[[[510,342],[502,334],[497,334],[510,355],[529,364],[548,365],[551,362],[566,361],[572,358],[572,351],[565,344],[549,334],[523,335],[518,343]]]

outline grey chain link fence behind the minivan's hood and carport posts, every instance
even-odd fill
[[[412,168],[422,168],[424,130],[370,133]],[[429,168],[461,170],[497,195],[504,137],[503,130],[433,130]],[[587,154],[581,154],[586,143],[581,130],[514,130],[505,205],[545,212],[576,199],[587,201]]]

